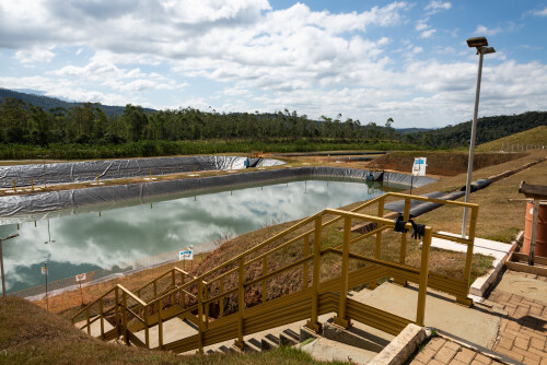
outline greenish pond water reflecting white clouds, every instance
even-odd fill
[[[60,215],[0,226],[7,291],[44,283],[39,269],[48,262],[48,280],[109,268],[241,235],[271,222],[287,222],[325,208],[338,208],[382,193],[372,182],[307,180],[246,187],[233,191],[175,197],[139,205]],[[133,202],[135,203],[135,202]]]

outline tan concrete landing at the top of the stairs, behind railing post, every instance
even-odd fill
[[[434,327],[447,333],[464,338],[470,342],[492,349],[501,318],[475,308],[467,308],[442,297],[442,294],[428,292],[426,301],[426,326]],[[393,283],[383,283],[361,303],[416,320],[418,291]]]

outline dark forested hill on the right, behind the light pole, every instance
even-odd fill
[[[476,143],[486,143],[539,126],[547,126],[547,111],[479,118]],[[409,139],[432,148],[457,148],[469,143],[470,131],[472,121],[466,121],[427,132],[410,133]]]

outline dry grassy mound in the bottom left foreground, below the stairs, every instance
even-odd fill
[[[0,364],[342,364],[314,361],[292,348],[267,353],[177,356],[105,343],[21,298],[0,297]]]

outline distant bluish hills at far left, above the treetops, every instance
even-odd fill
[[[28,104],[28,105],[32,104],[34,106],[39,106],[40,108],[43,108],[46,111],[49,109],[55,109],[55,108],[59,108],[59,107],[68,110],[74,106],[82,106],[83,105],[83,103],[65,102],[65,101],[61,101],[61,99],[56,98],[56,97],[19,93],[19,92],[13,91],[13,90],[0,87],[0,104],[2,103],[2,99],[8,98],[8,97],[19,98],[19,99],[25,102],[25,104]],[[124,113],[123,106],[97,104],[97,107],[100,109],[102,109],[108,116],[120,115]],[[150,109],[150,108],[143,108],[143,110],[146,113],[155,111],[154,109]]]

